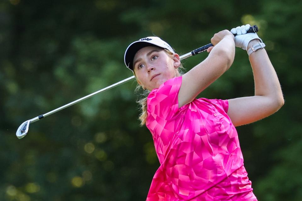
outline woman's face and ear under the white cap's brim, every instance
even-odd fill
[[[173,59],[163,48],[148,46],[137,51],[133,58],[133,69],[138,84],[149,91],[159,88],[168,79],[176,76],[176,69],[180,65],[178,54]]]

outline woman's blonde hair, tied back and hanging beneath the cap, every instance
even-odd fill
[[[165,50],[166,54],[171,59],[173,59],[173,57],[174,57],[173,53],[170,52],[169,50],[166,50],[166,49],[164,49],[164,50]],[[181,63],[180,66],[175,69],[175,71],[176,71],[176,77],[179,77],[179,76],[181,76],[183,74],[182,70],[183,70],[183,67],[182,67],[182,63]],[[133,71],[133,74],[136,77],[134,71]],[[137,78],[136,78],[136,80],[137,80]],[[150,91],[147,90],[147,89],[144,89],[138,83],[137,83],[137,87],[136,87],[135,91],[138,91],[141,88],[143,89],[143,93],[140,94],[141,98],[139,100],[137,100],[136,102],[140,105],[140,111],[141,111],[141,113],[140,113],[140,116],[138,117],[138,119],[141,121],[141,126],[143,126],[143,125],[146,124],[146,119],[147,119],[147,97],[148,97]]]

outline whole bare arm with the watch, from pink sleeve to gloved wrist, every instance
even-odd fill
[[[250,41],[250,46],[260,42]],[[249,56],[253,69],[255,95],[230,99],[228,116],[235,126],[258,121],[276,112],[284,104],[281,86],[265,49]]]

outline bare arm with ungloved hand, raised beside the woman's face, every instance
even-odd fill
[[[209,56],[182,76],[178,107],[192,101],[201,91],[219,78],[234,61],[234,36],[228,30],[220,31],[211,39],[214,48]]]

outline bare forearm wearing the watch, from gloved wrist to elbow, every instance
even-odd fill
[[[248,48],[258,42],[260,41],[251,41]],[[279,103],[282,106],[284,100],[281,86],[266,50],[259,49],[256,52],[253,52],[249,56],[249,61],[254,74],[255,95],[270,97],[274,102],[276,101],[276,103]]]

